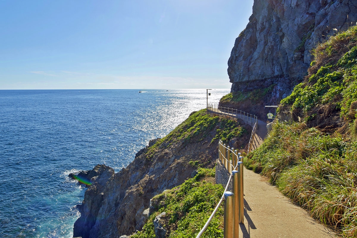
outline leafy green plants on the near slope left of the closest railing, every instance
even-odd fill
[[[163,221],[170,238],[196,237],[224,191],[221,184],[210,182],[210,177],[215,177],[215,169],[200,168],[194,178],[155,196],[152,199],[156,204],[154,212],[142,231],[132,238],[155,238],[153,221],[162,212],[166,212]],[[203,237],[223,237],[222,206],[217,213]]]

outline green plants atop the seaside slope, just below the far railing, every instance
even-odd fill
[[[239,126],[238,122],[229,120],[224,117],[212,116],[206,113],[206,109],[198,112],[193,112],[180,125],[178,125],[167,136],[161,138],[153,146],[149,147],[146,152],[146,157],[151,158],[159,148],[169,147],[172,143],[183,141],[183,146],[195,141],[204,140],[216,126],[220,126],[217,130],[217,136],[211,141],[213,143],[217,138],[224,141],[229,141],[236,136],[245,135],[248,133],[245,128]]]

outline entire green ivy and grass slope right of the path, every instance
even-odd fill
[[[309,75],[245,161],[343,237],[357,237],[357,27],[313,51]]]

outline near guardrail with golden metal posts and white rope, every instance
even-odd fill
[[[223,219],[223,237],[237,238],[239,235],[239,223],[244,223],[244,198],[243,198],[243,157],[237,150],[223,144],[222,140],[218,142],[218,159],[222,165],[230,173],[226,188],[213,210],[210,218],[208,218],[205,226],[197,234],[196,238],[200,238],[203,232],[206,231],[208,225],[215,216],[218,207],[225,201],[224,219]],[[233,178],[232,191],[227,191],[231,179]]]

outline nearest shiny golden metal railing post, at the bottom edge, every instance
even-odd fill
[[[223,237],[233,238],[233,216],[234,216],[234,194],[224,193],[224,218],[223,218]]]

